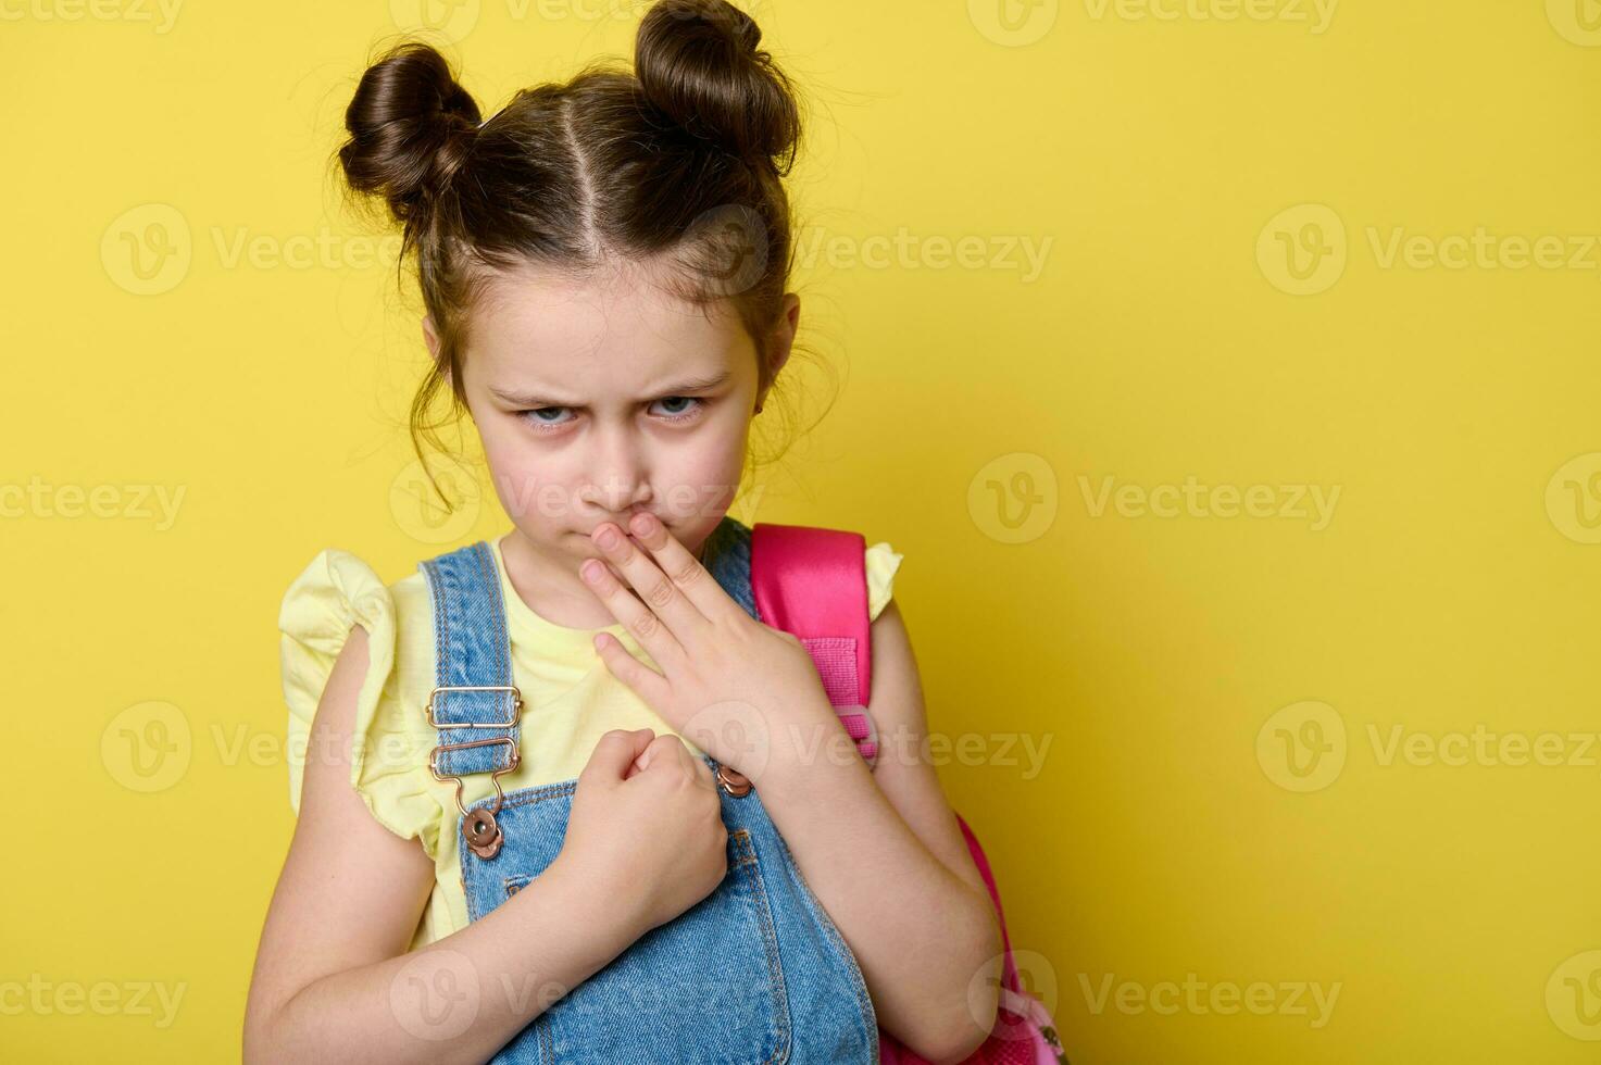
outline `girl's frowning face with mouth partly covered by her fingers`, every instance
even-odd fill
[[[797,315],[788,295],[773,373]],[[527,267],[485,288],[461,364],[495,492],[524,546],[568,572],[556,583],[581,586],[605,522],[626,532],[648,511],[700,553],[733,501],[762,397],[727,301],[703,311],[637,267],[584,280]]]

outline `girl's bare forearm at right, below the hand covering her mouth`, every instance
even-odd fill
[[[834,738],[849,758],[768,766],[762,804],[850,943],[879,1025],[921,1057],[962,1060],[994,1023],[994,905],[922,846],[844,729]]]

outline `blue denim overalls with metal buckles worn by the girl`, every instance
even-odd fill
[[[703,564],[760,620],[749,548],[751,530],[724,517]],[[488,545],[419,569],[434,601],[439,684],[427,705],[439,729],[429,766],[439,780],[456,778],[461,879],[467,918],[477,921],[560,852],[578,782],[501,793],[501,774],[519,764],[520,714],[540,708],[524,708],[514,685]],[[703,761],[717,774],[716,759]],[[484,772],[495,794],[463,807],[459,777]],[[722,882],[544,1009],[493,1062],[877,1065],[877,1020],[850,946],[800,878],[757,791],[749,782],[717,780],[728,828]]]

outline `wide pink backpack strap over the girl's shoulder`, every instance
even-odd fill
[[[751,594],[765,625],[805,645],[828,701],[857,753],[873,766],[879,737],[868,714],[873,650],[868,636],[866,538],[810,525],[751,527]]]

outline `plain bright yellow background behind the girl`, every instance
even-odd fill
[[[1302,0],[751,5],[812,104],[802,341],[839,404],[735,514],[890,540],[933,729],[1050,743],[1036,777],[989,738],[940,772],[1074,1065],[1601,1054],[1582,2],[1346,0],[1321,32]],[[415,309],[327,168],[405,6],[0,3],[0,485],[50,487],[0,496],[8,1060],[237,1055],[291,830],[285,586],[325,546],[397,580],[506,527],[485,501],[440,546],[405,504]],[[461,8],[485,114],[637,21],[516,11]],[[900,232],[908,261],[861,263]],[[1476,232],[1566,251],[1431,264]],[[941,266],[962,237],[1050,245],[1037,277]],[[1186,479],[1340,495],[1322,528],[1127,503]],[[62,516],[70,485],[101,516]],[[139,485],[183,490],[175,520]],[[1386,758],[1398,727],[1563,754]],[[1300,738],[1318,790],[1274,754]],[[1108,977],[1276,1006],[1097,1009]],[[19,1011],[29,980],[118,990]],[[141,982],[183,988],[170,1025]],[[1294,982],[1338,985],[1327,1023]]]

